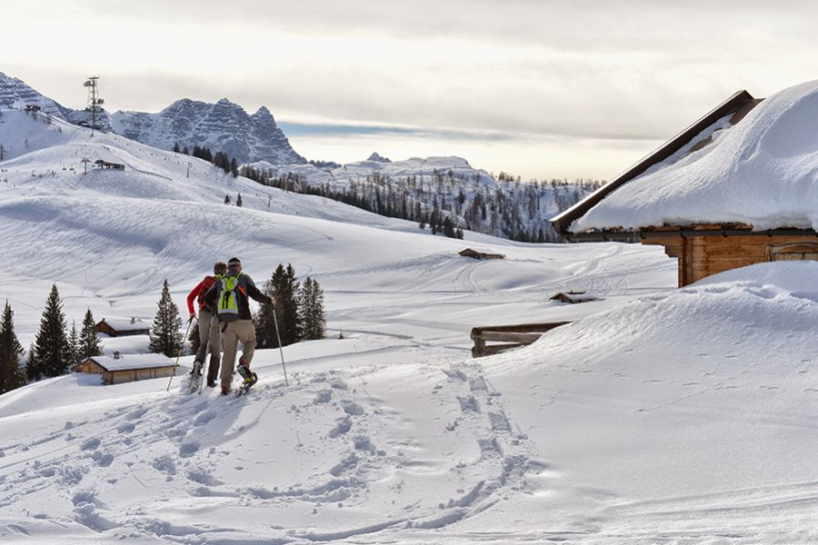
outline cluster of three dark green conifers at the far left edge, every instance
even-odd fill
[[[25,351],[15,333],[14,311],[5,302],[0,318],[0,393],[24,386],[27,381],[63,375],[78,363],[101,353],[91,309],[85,312],[80,331],[76,329],[76,322],[70,331],[66,330],[63,302],[55,284],[45,301],[40,329],[23,366]]]

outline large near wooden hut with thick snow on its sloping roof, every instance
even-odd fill
[[[733,94],[551,222],[572,241],[662,244],[679,286],[818,260],[818,81]]]

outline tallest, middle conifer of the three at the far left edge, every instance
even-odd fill
[[[56,284],[45,301],[40,330],[35,336],[33,353],[29,354],[26,373],[29,378],[58,377],[68,372],[68,338],[65,334],[65,314]]]

